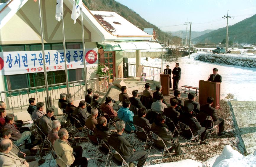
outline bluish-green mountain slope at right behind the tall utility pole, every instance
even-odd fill
[[[232,26],[228,26],[229,41],[233,43],[255,43],[256,42],[256,14],[242,20]],[[226,39],[227,29],[220,28],[207,34],[196,37],[192,42],[196,43],[218,43]],[[191,34],[192,35],[192,34]]]

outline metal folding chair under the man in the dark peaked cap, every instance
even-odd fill
[[[179,123],[179,126],[180,126],[180,131],[179,131],[179,134],[178,134],[178,137],[177,138],[179,138],[179,136],[181,136],[182,138],[184,138],[186,141],[188,141],[188,140],[190,140],[189,141],[189,146],[190,146],[190,144],[191,144],[191,141],[192,141],[192,139],[194,139],[194,141],[195,141],[195,143],[196,143],[196,145],[197,145],[197,148],[199,149],[199,146],[198,146],[198,144],[197,144],[197,141],[196,141],[196,138],[198,137],[198,135],[196,135],[196,136],[194,136],[194,134],[192,133],[192,131],[191,131],[191,129],[189,128],[189,126],[188,125],[186,125],[186,124],[184,124],[184,123],[182,123],[182,122],[178,122]],[[188,136],[186,136],[186,135],[184,135],[184,132],[189,132],[190,131],[190,133],[191,133],[191,136],[190,137],[188,137]],[[188,146],[188,148],[187,148],[187,151],[189,150],[189,146]],[[186,151],[186,152],[187,152]],[[185,153],[186,153],[185,152]]]

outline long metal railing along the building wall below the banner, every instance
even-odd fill
[[[84,99],[85,94],[85,80],[69,82],[69,90],[72,94],[73,100]],[[61,93],[67,93],[66,83],[58,83],[48,85],[49,96],[51,96],[51,103],[57,105],[55,100],[59,99]],[[87,80],[87,89],[91,88],[93,92],[98,92],[104,95],[109,88],[109,77],[98,77]],[[0,92],[0,100],[4,101],[7,105],[7,110],[11,109],[14,113],[14,109],[27,110],[29,105],[28,99],[34,97],[37,102],[45,102],[46,86],[29,87],[16,90],[8,90]]]

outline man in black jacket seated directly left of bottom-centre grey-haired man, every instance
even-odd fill
[[[107,119],[105,117],[99,117],[97,120],[97,125],[94,128],[94,135],[99,140],[103,140],[105,143],[107,143],[111,134],[109,128],[106,125]]]

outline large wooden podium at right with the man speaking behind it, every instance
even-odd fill
[[[206,104],[207,97],[209,96],[214,98],[212,107],[215,109],[219,109],[220,108],[220,82],[199,80],[200,105]]]

